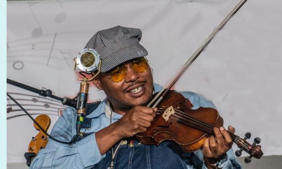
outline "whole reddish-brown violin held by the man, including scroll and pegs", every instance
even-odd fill
[[[214,127],[223,126],[223,119],[216,109],[200,107],[193,110],[189,99],[175,91],[169,91],[157,108],[151,126],[146,132],[136,135],[144,145],[159,145],[169,140],[176,142],[184,151],[194,152],[203,147],[205,138],[214,136]],[[244,139],[231,132],[229,134],[240,148],[235,152],[236,156],[241,156],[243,150],[250,154],[245,163],[250,163],[252,157],[259,159],[263,155],[261,146],[257,145],[259,138],[256,137],[251,145],[246,141],[251,137],[250,133],[246,133]]]

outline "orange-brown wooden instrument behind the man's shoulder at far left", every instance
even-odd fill
[[[45,114],[37,116],[35,121],[37,121],[45,131],[48,130],[51,124],[49,116]],[[28,167],[30,166],[32,159],[37,155],[38,151],[45,148],[48,143],[47,135],[35,123],[33,123],[33,126],[39,132],[35,137],[32,137],[32,140],[28,145],[28,152],[25,153],[26,165]]]

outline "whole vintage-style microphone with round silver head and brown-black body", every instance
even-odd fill
[[[89,83],[87,81],[93,80],[100,73],[102,60],[98,52],[92,48],[82,49],[80,52],[78,52],[78,55],[74,60],[75,60],[75,71],[77,67],[82,72],[85,72],[86,74],[90,74],[91,72],[98,70],[98,72],[95,73],[95,75],[91,79],[87,79],[86,76],[84,76],[81,72],[79,72],[82,76],[84,76],[83,79],[80,79],[78,77],[78,79],[81,80],[82,82],[80,83],[80,89],[76,99],[77,100],[76,129],[77,129],[77,133],[79,133],[81,124],[83,123],[83,117],[86,115],[86,104],[87,104],[88,89],[89,89]]]

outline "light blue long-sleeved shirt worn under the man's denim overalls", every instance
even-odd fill
[[[154,91],[160,91],[161,86],[154,84]],[[215,108],[211,101],[206,100],[193,92],[179,92],[188,98],[193,104],[193,109],[201,107]],[[110,125],[110,118],[105,114],[107,98],[105,98],[87,118],[93,118],[91,128],[85,129],[85,133],[93,133],[73,145],[64,145],[49,139],[47,146],[41,149],[33,159],[30,169],[90,169],[99,163],[105,154],[101,155],[95,132]],[[122,115],[113,112],[112,122],[118,121]],[[51,135],[64,142],[69,142],[76,134],[76,110],[68,107],[63,111],[63,115],[56,121],[52,128]],[[81,129],[80,131],[84,131]],[[162,144],[162,143],[161,143]],[[153,146],[153,145],[148,145]],[[191,157],[191,154],[194,158]],[[228,163],[223,169],[242,169],[239,162],[235,159],[232,149],[228,152]],[[193,153],[181,154],[183,161],[188,169],[207,169],[203,164],[202,150]],[[197,160],[194,160],[194,159]],[[133,159],[134,160],[134,159]],[[199,168],[199,166],[201,166]]]

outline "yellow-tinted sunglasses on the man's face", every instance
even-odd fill
[[[117,67],[111,71],[108,71],[104,74],[108,75],[113,82],[121,82],[126,78],[128,67],[130,67],[134,72],[142,73],[145,72],[148,68],[148,60],[145,57],[134,60],[130,62],[128,66]],[[128,63],[127,63],[128,64]]]

